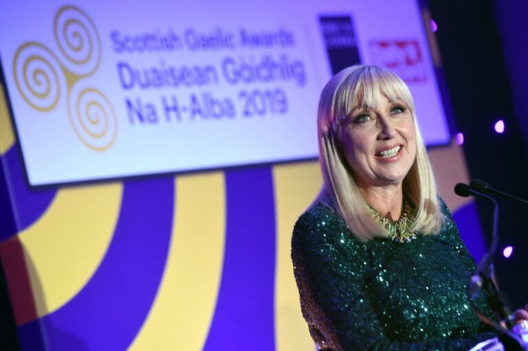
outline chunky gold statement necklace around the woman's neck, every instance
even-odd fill
[[[416,233],[410,231],[410,225],[412,224],[413,209],[410,205],[410,201],[404,196],[404,205],[401,210],[401,217],[399,220],[388,219],[377,212],[371,205],[369,205],[374,218],[388,231],[388,236],[394,242],[405,244],[411,240],[416,239]]]

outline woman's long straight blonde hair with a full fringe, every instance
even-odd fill
[[[333,208],[355,236],[366,241],[386,237],[355,183],[346,157],[340,151],[340,121],[356,106],[379,106],[382,95],[390,101],[401,100],[410,109],[414,121],[417,152],[415,162],[403,182],[404,194],[416,208],[411,230],[434,234],[443,225],[434,173],[423,144],[410,91],[395,73],[376,66],[355,65],[333,76],[322,89],[318,109],[319,161],[323,185],[316,203]]]

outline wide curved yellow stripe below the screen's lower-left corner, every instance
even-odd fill
[[[19,233],[38,317],[63,306],[96,272],[118,222],[122,188],[58,190],[43,216]]]

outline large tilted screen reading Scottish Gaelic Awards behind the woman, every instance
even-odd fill
[[[320,91],[356,63],[449,139],[416,0],[1,1],[0,31],[31,185],[315,158]]]

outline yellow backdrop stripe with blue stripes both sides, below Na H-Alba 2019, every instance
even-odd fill
[[[214,315],[225,245],[223,173],[179,176],[175,192],[164,277],[129,350],[201,350]]]

